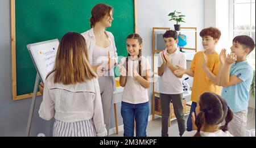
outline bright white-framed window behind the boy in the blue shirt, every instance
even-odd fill
[[[247,35],[255,41],[255,0],[230,0],[230,38]],[[247,56],[255,69],[255,49]]]

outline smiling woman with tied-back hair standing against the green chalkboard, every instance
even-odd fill
[[[88,48],[89,62],[98,74],[104,122],[109,133],[109,122],[115,79],[113,67],[117,64],[117,48],[114,36],[106,28],[112,26],[113,7],[99,3],[91,11],[89,31],[81,33]],[[106,66],[104,66],[106,65]]]

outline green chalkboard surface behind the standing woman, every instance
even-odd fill
[[[97,3],[114,8],[112,27],[118,56],[126,56],[126,36],[135,32],[134,0],[15,0],[16,95],[34,89],[36,69],[27,44],[61,39],[69,31],[90,29],[90,11]]]

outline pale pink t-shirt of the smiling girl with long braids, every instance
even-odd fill
[[[124,66],[126,68],[126,57],[122,58],[120,66]],[[131,104],[140,104],[148,102],[148,94],[147,88],[143,87],[137,79],[135,79],[133,75],[133,67],[137,68],[137,72],[139,74],[139,60],[131,60],[129,57],[128,60],[128,75],[126,77],[125,88],[123,89],[122,101]],[[151,66],[148,62],[147,58],[141,57],[141,75],[146,75],[146,70],[150,70]]]

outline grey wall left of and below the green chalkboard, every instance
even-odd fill
[[[31,99],[12,100],[10,1],[0,1],[0,136],[25,136]],[[49,136],[51,121],[38,117],[42,97],[36,99],[31,136]]]

